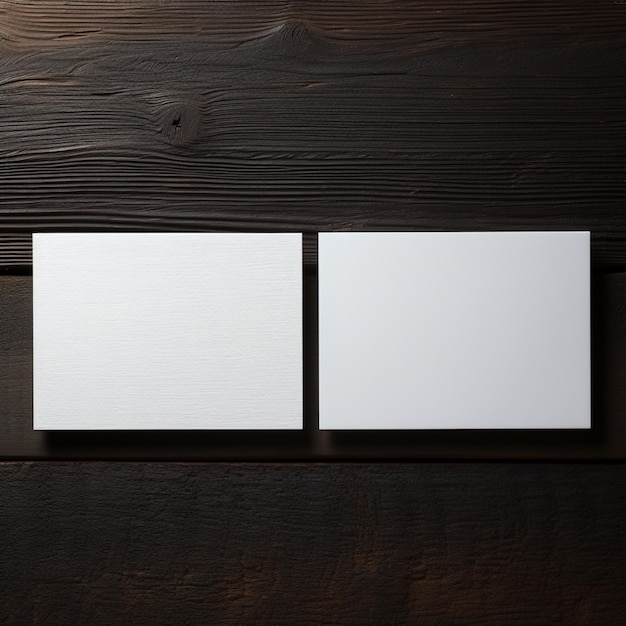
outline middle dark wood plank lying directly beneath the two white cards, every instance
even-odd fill
[[[592,277],[592,430],[317,428],[317,274],[304,275],[304,431],[32,430],[32,279],[0,277],[0,459],[626,459],[626,273]]]

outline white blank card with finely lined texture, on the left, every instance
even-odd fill
[[[302,428],[299,234],[35,234],[34,428]]]

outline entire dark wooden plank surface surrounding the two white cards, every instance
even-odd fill
[[[623,624],[625,28],[0,1],[0,623]],[[315,235],[363,229],[590,230],[593,429],[317,431]],[[68,230],[304,232],[305,431],[34,433],[30,235]]]

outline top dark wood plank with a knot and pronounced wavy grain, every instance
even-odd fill
[[[0,266],[36,230],[584,229],[626,264],[626,5],[0,2]]]

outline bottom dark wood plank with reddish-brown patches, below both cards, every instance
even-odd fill
[[[620,624],[626,468],[0,465],[0,621]]]

